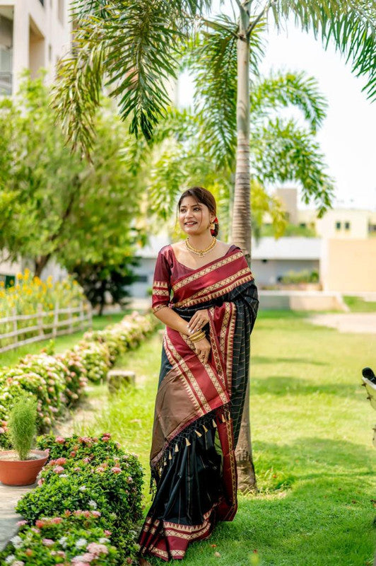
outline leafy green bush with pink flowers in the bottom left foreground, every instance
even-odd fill
[[[98,438],[46,435],[37,444],[49,450],[49,461],[38,487],[17,504],[24,517],[21,530],[0,553],[0,562],[131,564],[138,548],[134,523],[141,519],[138,458],[108,433]]]

